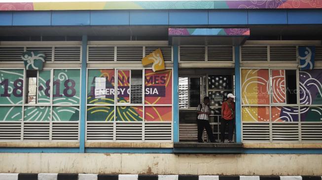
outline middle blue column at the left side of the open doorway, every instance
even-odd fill
[[[179,62],[178,46],[173,46],[173,141],[179,142]]]

